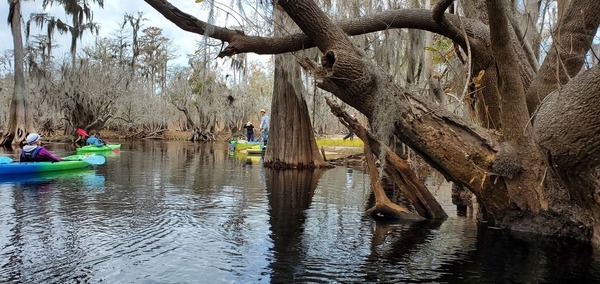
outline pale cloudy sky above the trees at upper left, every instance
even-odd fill
[[[12,34],[7,24],[8,17],[8,1],[0,0],[0,38],[3,39],[0,43],[0,52],[4,52],[6,49],[12,49]],[[188,14],[200,19],[206,20],[206,12],[202,11],[203,5],[195,3],[194,0],[170,0],[170,3],[175,7],[187,12]],[[22,4],[23,20],[26,22],[29,19],[30,13],[41,13],[44,12],[42,9],[42,1],[23,1]],[[150,5],[143,0],[104,0],[104,9],[100,9],[97,6],[93,6],[94,21],[100,23],[99,35],[101,37],[108,37],[119,27],[120,22],[123,21],[123,15],[125,13],[137,15],[137,12],[143,12],[144,17],[148,20],[144,22],[144,27],[156,26],[163,29],[163,35],[170,38],[173,42],[173,46],[177,49],[178,58],[175,59],[175,64],[186,65],[187,56],[194,52],[197,46],[197,42],[202,40],[202,36],[190,32],[181,30],[175,24],[171,23],[161,14],[156,12]],[[45,12],[66,19],[64,10],[61,6],[53,5]],[[24,28],[24,26],[23,26]],[[45,34],[45,31],[34,28],[31,34]],[[69,36],[55,34],[57,43],[60,45],[53,53],[58,56],[59,49],[61,52],[68,53],[69,50]],[[95,35],[89,33],[84,34],[83,39],[78,43],[78,52],[81,47],[90,45],[95,40]]]

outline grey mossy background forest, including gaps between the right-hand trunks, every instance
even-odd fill
[[[101,9],[91,2],[96,1],[80,4],[87,3],[92,14],[93,9]],[[269,5],[240,1],[243,4],[227,7],[200,2],[200,9],[210,10],[213,17],[243,14],[246,15],[243,20],[256,35],[272,33]],[[541,11],[537,19],[531,18],[527,11],[533,2],[515,2],[517,10],[514,12],[523,28],[533,26],[539,31],[528,33],[527,37],[537,43],[532,48],[542,60],[552,42],[551,24],[558,17],[558,2],[538,4]],[[381,1],[342,1],[337,3],[337,13],[331,16],[340,20],[356,17],[385,8],[382,4]],[[421,8],[433,4],[435,1],[410,0],[391,7]],[[42,7],[43,3],[39,5]],[[246,13],[238,11],[244,9]],[[256,14],[247,16],[248,10]],[[101,23],[91,19],[81,22],[80,32],[73,35],[75,44],[70,46],[71,52],[66,53],[64,47],[58,48],[55,38],[59,33],[71,33],[70,29],[76,26],[73,21],[44,13],[22,17],[27,26],[24,40],[27,97],[41,132],[69,135],[77,128],[107,128],[143,136],[167,128],[183,131],[197,128],[202,133],[240,135],[242,125],[248,120],[258,121],[258,110],[268,108],[271,103],[271,56],[263,56],[262,61],[249,61],[246,54],[237,54],[217,60],[223,50],[221,41],[207,37],[197,41],[196,52],[187,55],[186,66],[174,64],[173,59],[181,55],[172,45],[172,39],[165,37],[160,27],[152,26],[152,19],[141,12],[123,14],[120,29],[109,37],[97,36]],[[61,20],[64,26],[57,24]],[[230,22],[239,23],[240,19]],[[292,34],[292,29],[288,29],[287,33]],[[77,46],[76,42],[83,37],[95,38],[95,44]],[[473,90],[481,86],[477,82],[481,76],[473,76],[476,80],[467,82],[463,76],[467,71],[461,66],[464,58],[455,52],[456,46],[448,38],[418,30],[385,30],[357,35],[353,41],[363,46],[370,57],[403,86],[464,118],[471,117],[465,115],[464,112],[469,111],[465,105],[473,102]],[[599,49],[595,44],[594,50]],[[318,55],[311,50],[295,57],[302,56]],[[587,65],[593,66],[598,57],[590,56],[588,60]],[[5,50],[0,55],[0,70],[0,131],[3,131],[9,121],[14,88],[13,50]],[[303,76],[304,96],[315,133],[344,132],[343,125],[330,114],[323,99],[324,92],[315,88],[308,74]]]

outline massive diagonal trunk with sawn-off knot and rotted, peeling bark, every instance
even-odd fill
[[[314,70],[320,86],[369,117],[378,136],[395,135],[449,180],[469,188],[489,221],[518,229],[520,214],[539,214],[548,208],[537,175],[541,163],[522,163],[519,152],[510,143],[500,143],[501,137],[468,127],[392,84],[311,1],[279,3],[325,54],[321,67],[305,64]],[[499,90],[506,92],[506,88]],[[509,136],[509,142],[521,141],[516,130],[511,133],[515,136]],[[567,233],[580,231],[580,220],[555,219],[561,219],[561,229]],[[546,228],[542,233],[550,232]]]

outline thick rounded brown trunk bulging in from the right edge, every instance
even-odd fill
[[[598,200],[600,189],[598,78],[598,65],[579,74],[546,97],[534,120],[535,139],[548,166],[586,208]]]

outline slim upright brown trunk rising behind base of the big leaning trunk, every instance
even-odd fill
[[[498,71],[498,90],[500,91],[500,121],[502,123],[502,143],[508,151],[496,157],[497,162],[507,160],[501,165],[502,170],[509,166],[510,173],[503,174],[512,202],[521,209],[530,209],[538,212],[548,209],[545,191],[536,187],[543,175],[543,163],[537,155],[533,145],[531,128],[527,127],[529,113],[525,101],[525,89],[518,73],[517,54],[512,45],[506,42],[515,42],[511,38],[511,27],[503,6],[504,0],[487,0],[490,37],[492,50],[496,58]],[[492,33],[492,31],[494,31]],[[500,169],[496,166],[496,172]],[[513,178],[514,177],[514,178]]]

